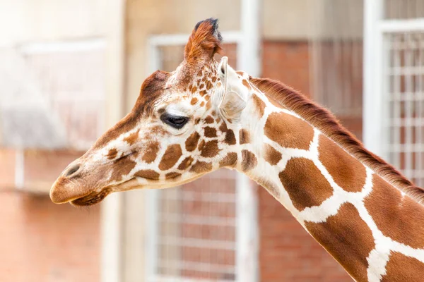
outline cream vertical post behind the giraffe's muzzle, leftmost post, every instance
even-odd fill
[[[107,0],[107,126],[122,118],[125,1]],[[100,209],[100,281],[122,281],[122,193],[107,197]]]

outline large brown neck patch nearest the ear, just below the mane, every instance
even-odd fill
[[[314,137],[311,125],[284,113],[272,113],[265,123],[264,133],[281,147],[309,149]]]

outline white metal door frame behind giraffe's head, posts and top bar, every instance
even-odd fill
[[[237,44],[237,68],[247,71],[252,76],[261,73],[260,37],[259,37],[259,1],[242,1],[242,30],[222,32],[224,42]],[[158,47],[184,46],[189,38],[188,34],[180,35],[155,35],[148,39],[148,72],[155,71],[160,66],[160,53]],[[159,235],[157,222],[158,192],[148,191],[151,195],[146,197],[146,219],[148,232],[146,236],[146,277],[156,269],[158,254],[156,245]],[[236,178],[236,278],[237,281],[259,281],[259,234],[257,227],[257,194],[254,185],[247,176],[237,173]]]

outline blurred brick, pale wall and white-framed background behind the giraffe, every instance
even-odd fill
[[[351,281],[233,171],[50,202],[210,17],[232,66],[312,97],[424,185],[424,0],[0,0],[0,281]]]

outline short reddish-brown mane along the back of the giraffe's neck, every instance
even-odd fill
[[[346,128],[343,128],[329,111],[318,106],[282,82],[268,78],[250,78],[250,81],[261,92],[264,92],[271,99],[281,104],[281,106],[305,118],[305,121],[319,129],[324,135],[336,142],[360,162],[370,167],[377,175],[391,183],[391,185],[405,192],[420,204],[424,203],[423,188],[413,185],[410,180],[405,178],[393,166],[365,149],[363,144],[346,130]]]

